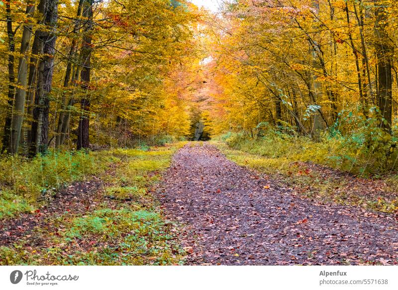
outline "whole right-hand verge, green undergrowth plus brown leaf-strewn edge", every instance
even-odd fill
[[[300,196],[398,212],[394,155],[382,163],[377,153],[357,152],[361,144],[352,138],[323,136],[314,142],[271,129],[263,134],[249,138],[228,133],[214,144],[229,159],[280,180]]]

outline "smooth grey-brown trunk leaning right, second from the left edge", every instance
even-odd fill
[[[17,86],[15,92],[14,106],[12,111],[11,122],[11,139],[9,150],[12,154],[18,152],[19,141],[21,137],[21,128],[23,122],[23,114],[25,110],[26,97],[26,81],[28,71],[28,50],[30,39],[32,38],[32,18],[34,15],[34,0],[28,0],[26,5],[27,25],[23,26],[20,57],[18,62]]]

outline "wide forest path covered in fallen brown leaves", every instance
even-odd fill
[[[392,216],[299,198],[212,145],[180,149],[161,189],[165,213],[185,225],[188,265],[398,263]]]

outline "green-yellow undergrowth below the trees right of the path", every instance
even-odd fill
[[[221,140],[231,148],[280,158],[281,162],[313,161],[354,173],[375,174],[398,167],[397,141],[380,128],[381,120],[377,116],[362,120],[356,124],[357,129],[346,136],[333,127],[330,133],[321,134],[318,142],[268,127],[261,137],[249,138],[242,133],[228,132]]]

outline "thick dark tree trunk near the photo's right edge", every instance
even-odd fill
[[[375,36],[376,36],[376,53],[378,67],[378,84],[377,93],[378,107],[384,118],[381,127],[390,135],[392,134],[392,110],[393,110],[393,94],[392,94],[392,58],[394,53],[393,45],[390,43],[386,26],[388,21],[388,12],[383,5],[384,1],[375,2]]]

